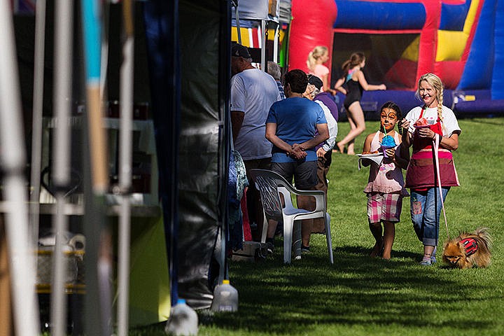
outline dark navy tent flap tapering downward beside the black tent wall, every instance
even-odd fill
[[[144,7],[151,101],[158,153],[159,193],[165,223],[172,305],[178,299],[180,51],[177,1]]]

